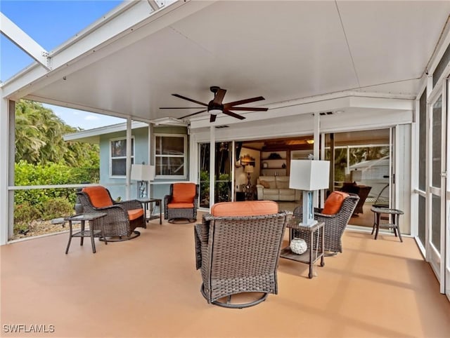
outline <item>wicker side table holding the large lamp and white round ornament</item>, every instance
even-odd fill
[[[280,257],[292,259],[297,262],[309,264],[309,278],[313,278],[313,266],[321,259],[321,266],[325,266],[325,240],[323,236],[324,222],[318,222],[311,227],[299,224],[300,219],[297,217],[291,217],[286,227],[289,228],[289,244],[293,239],[293,230],[301,230],[309,234],[309,243],[314,243],[314,236],[317,237],[316,248],[308,248],[302,255],[297,255],[290,250],[290,245],[281,250]]]

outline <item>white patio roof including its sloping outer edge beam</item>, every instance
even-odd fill
[[[176,119],[210,86],[262,95],[261,121],[316,111],[413,109],[448,36],[449,1],[125,2],[2,84],[2,94],[135,121]],[[210,126],[207,113],[191,128]],[[217,116],[214,123],[239,123]]]

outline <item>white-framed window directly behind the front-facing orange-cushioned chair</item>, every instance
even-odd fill
[[[186,177],[186,135],[155,134],[155,175]]]

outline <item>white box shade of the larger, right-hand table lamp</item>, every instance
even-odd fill
[[[291,160],[289,187],[299,190],[328,188],[330,161]]]

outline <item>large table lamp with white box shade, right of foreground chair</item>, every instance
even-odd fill
[[[330,161],[291,160],[289,187],[303,190],[302,225],[311,227],[314,219],[314,190],[326,189],[330,182]]]

